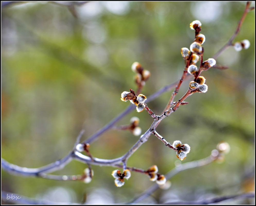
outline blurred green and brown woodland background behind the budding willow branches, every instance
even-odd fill
[[[2,2],[3,3],[3,2]],[[129,102],[120,94],[136,90],[133,62],[151,72],[142,93],[149,96],[178,80],[183,72],[182,47],[194,40],[189,28],[202,23],[204,59],[227,42],[246,2],[16,2],[2,7],[2,158],[22,167],[40,167],[64,157],[82,128],[91,136]],[[254,3],[252,4],[254,6]],[[157,127],[168,142],[191,146],[182,162],[175,152],[151,136],[128,160],[128,166],[157,165],[167,173],[175,165],[205,158],[220,141],[230,145],[225,160],[180,172],[171,187],[158,189],[141,203],[201,200],[254,191],[255,13],[245,18],[235,41],[251,46],[230,47],[217,59],[229,69],[209,69],[208,92],[193,94]],[[184,82],[177,101],[188,89]],[[173,91],[173,90],[172,90]],[[160,115],[171,92],[148,107]],[[132,111],[117,125],[140,118],[144,133],[153,122],[147,112]],[[91,144],[94,157],[123,155],[138,140],[129,131],[110,130]],[[87,165],[72,161],[52,174],[82,174]],[[132,172],[125,185],[114,185],[116,168],[93,166],[91,183],[13,176],[2,171],[2,190],[21,196],[86,204],[121,203],[145,191],[153,182]],[[228,204],[254,204],[251,200]]]

